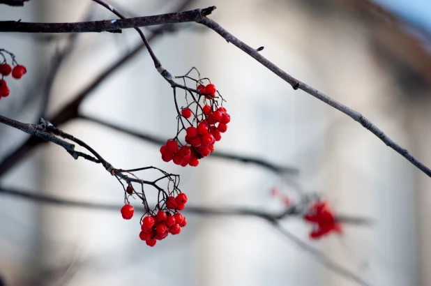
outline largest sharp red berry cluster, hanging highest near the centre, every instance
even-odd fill
[[[205,98],[215,98],[214,84],[203,86],[199,84],[197,90],[203,93]],[[199,159],[209,156],[214,151],[216,141],[222,139],[221,133],[227,131],[227,123],[230,122],[230,115],[225,107],[217,107],[215,100],[210,100],[211,105],[201,107],[199,103],[196,106],[196,112],[193,113],[190,106],[181,110],[181,116],[188,119],[190,127],[186,128],[184,141],[181,144],[177,137],[173,140],[167,140],[166,144],[160,147],[162,160],[165,162],[173,161],[176,165],[186,167],[190,165],[196,167],[199,165]],[[190,122],[190,117],[192,117]]]

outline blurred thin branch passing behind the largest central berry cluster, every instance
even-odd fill
[[[161,137],[157,137],[157,136],[149,134],[149,133],[142,133],[142,132],[133,131],[129,128],[125,128],[125,127],[118,126],[118,125],[113,124],[113,123],[108,123],[106,121],[96,119],[93,116],[79,114],[78,118],[84,119],[86,121],[98,123],[102,126],[114,129],[114,130],[122,132],[122,133],[126,133],[128,135],[132,135],[134,137],[145,140],[146,142],[156,144],[158,146],[162,146],[163,144],[166,143],[166,139],[163,139]],[[271,170],[272,172],[275,172],[277,174],[298,174],[298,172],[299,172],[298,169],[295,167],[280,166],[280,165],[270,163],[267,160],[264,160],[261,158],[253,158],[250,156],[239,156],[239,155],[235,155],[232,153],[229,154],[229,153],[213,151],[213,153],[211,153],[211,155],[210,155],[210,158],[224,158],[227,160],[234,160],[234,161],[239,161],[242,163],[250,163],[253,165],[257,165],[259,167],[264,167],[265,169]]]

